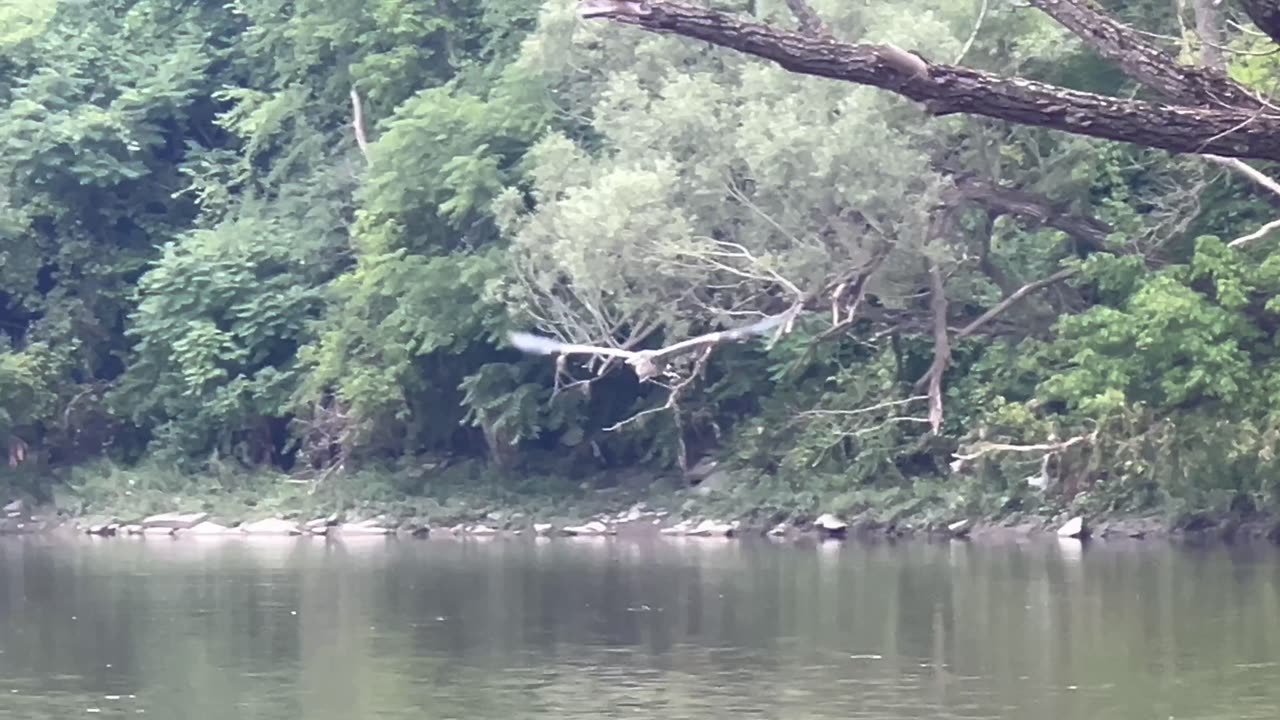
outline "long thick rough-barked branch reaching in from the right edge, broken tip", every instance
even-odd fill
[[[937,115],[983,115],[1179,154],[1280,160],[1280,115],[1265,109],[1124,100],[919,60],[922,73],[905,67],[897,49],[808,37],[677,0],[582,0],[579,8],[585,18],[703,40],[795,73],[886,88]]]

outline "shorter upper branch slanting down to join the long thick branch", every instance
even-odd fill
[[[1217,68],[1179,63],[1115,18],[1080,0],[1030,0],[1059,24],[1078,35],[1098,55],[1169,100],[1203,108],[1262,106],[1258,99]]]

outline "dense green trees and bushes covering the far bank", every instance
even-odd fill
[[[863,5],[815,4],[841,38],[1146,92],[1036,10]],[[1115,17],[1194,63],[1187,28],[1222,23],[1196,10]],[[0,488],[439,519],[1276,509],[1280,256],[1233,242],[1271,197],[979,115],[572,0],[0,3]],[[506,341],[787,311],[662,383]],[[731,482],[682,492],[708,457]]]

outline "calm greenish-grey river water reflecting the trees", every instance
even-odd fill
[[[0,717],[1280,717],[1280,555],[3,539]]]

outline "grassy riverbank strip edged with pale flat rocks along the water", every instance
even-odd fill
[[[777,478],[714,466],[687,478],[643,470],[566,478],[503,477],[483,464],[422,464],[298,479],[278,473],[198,477],[155,465],[79,468],[44,501],[17,493],[0,533],[543,534],[714,537],[1093,538],[1280,541],[1268,512],[1100,511],[988,497],[963,483],[800,493]],[[13,497],[13,496],[10,496]],[[3,500],[3,498],[0,498]],[[1078,528],[1064,527],[1079,521]]]

